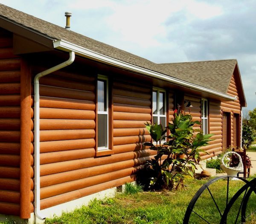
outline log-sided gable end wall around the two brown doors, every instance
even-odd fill
[[[233,137],[233,129],[234,129],[234,113],[239,114],[239,121],[241,122],[241,104],[240,104],[240,100],[239,100],[239,93],[238,93],[238,89],[237,89],[237,83],[236,83],[236,79],[235,76],[232,75],[231,80],[230,80],[230,84],[227,90],[227,94],[230,96],[234,96],[237,99],[235,101],[222,101],[221,102],[221,109],[225,112],[229,112],[230,113],[230,117],[231,117],[231,148],[234,145],[234,137]],[[239,133],[240,133],[240,125],[239,129],[236,130],[237,132],[237,137],[240,140],[239,137]]]

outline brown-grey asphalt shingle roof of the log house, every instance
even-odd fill
[[[64,29],[32,15],[0,4],[0,15],[22,26],[47,35],[55,40],[65,40],[102,55],[118,59],[148,70],[162,73],[183,81],[227,93],[236,60],[198,61],[185,63],[156,64],[108,44],[93,40],[79,33]]]

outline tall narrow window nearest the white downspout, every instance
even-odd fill
[[[108,78],[98,76],[97,81],[98,151],[108,149]]]

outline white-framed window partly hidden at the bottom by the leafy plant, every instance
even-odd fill
[[[153,89],[152,101],[153,123],[166,127],[166,92],[161,89]]]

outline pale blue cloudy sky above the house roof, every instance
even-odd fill
[[[155,63],[236,58],[256,108],[256,0],[0,0]]]

